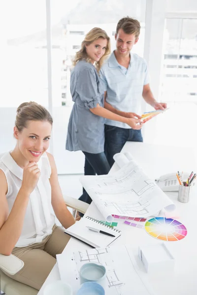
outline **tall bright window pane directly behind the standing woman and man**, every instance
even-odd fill
[[[94,1],[93,4],[91,1],[51,0],[53,138],[59,174],[84,171],[83,153],[69,152],[65,148],[67,125],[73,105],[69,91],[70,72],[76,51],[80,49],[85,34],[94,27],[100,27],[107,32],[111,39],[111,50],[114,50],[117,22],[125,15],[130,15],[141,22],[140,38],[133,47],[133,52],[143,57],[145,9],[145,0],[131,1],[129,6],[128,0],[122,0],[121,9],[120,3],[117,2],[109,5],[107,10],[105,5],[100,5],[100,1]],[[59,48],[54,48],[54,45]]]

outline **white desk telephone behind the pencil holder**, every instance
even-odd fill
[[[184,172],[183,175],[186,177],[186,179],[184,177],[183,181],[186,181],[190,173]],[[155,181],[164,192],[173,192],[179,190],[179,182],[176,177],[176,172],[164,174],[159,179],[155,179]]]

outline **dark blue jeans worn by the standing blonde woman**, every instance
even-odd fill
[[[85,155],[85,166],[84,166],[84,175],[104,175],[108,174],[110,170],[109,163],[105,156],[104,151],[94,154],[83,151]],[[83,188],[83,194],[79,198],[79,200],[91,204],[92,199],[88,195],[88,193]],[[80,214],[81,215],[81,214]]]

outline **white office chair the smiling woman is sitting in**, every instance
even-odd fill
[[[73,209],[74,217],[77,211],[85,214],[86,210],[89,207],[89,204],[74,199],[72,197],[64,196],[64,199],[66,206]],[[5,256],[0,254],[0,269],[5,270],[7,273],[13,275],[17,273],[23,266],[23,261],[18,259],[16,256]],[[0,290],[4,292],[2,294],[6,295],[36,295],[38,293],[36,289],[11,279],[7,275],[5,275],[1,270]]]

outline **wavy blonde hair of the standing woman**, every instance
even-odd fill
[[[97,68],[97,71],[99,72],[104,60],[106,59],[107,55],[110,54],[110,38],[107,35],[107,33],[100,28],[94,28],[91,29],[85,36],[85,39],[81,43],[81,49],[76,52],[73,65],[76,65],[76,63],[79,60],[86,60],[87,62],[91,62],[91,59],[88,57],[87,52],[86,52],[86,45],[91,44],[92,42],[98,40],[99,38],[107,39],[107,46],[105,53],[103,56],[95,63],[95,66]]]

